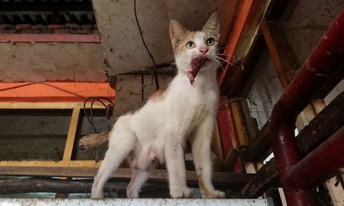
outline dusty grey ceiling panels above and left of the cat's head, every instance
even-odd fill
[[[236,2],[137,1],[142,36],[155,62],[158,65],[168,62],[172,54],[168,31],[170,19],[197,30],[213,12],[218,11],[225,17],[222,23],[224,43]],[[134,0],[93,0],[92,4],[100,43],[0,43],[0,80],[97,82],[106,80],[106,70],[112,76],[153,66],[138,30]]]

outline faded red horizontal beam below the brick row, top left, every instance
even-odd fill
[[[100,43],[98,34],[0,34],[0,43],[58,42]]]

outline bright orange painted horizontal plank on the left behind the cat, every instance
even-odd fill
[[[88,97],[114,100],[107,82],[0,82],[0,102],[83,102]]]

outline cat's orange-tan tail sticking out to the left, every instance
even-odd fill
[[[100,144],[105,144],[107,141],[109,141],[109,133],[110,130],[103,133],[94,133],[82,137],[79,140],[78,147],[87,150],[89,148],[94,148]]]

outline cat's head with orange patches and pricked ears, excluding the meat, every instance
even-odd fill
[[[193,60],[198,57],[206,58],[203,67],[216,64],[215,55],[219,44],[219,16],[217,13],[209,18],[202,30],[196,32],[186,30],[178,21],[171,20],[169,33],[178,69],[188,72]]]

